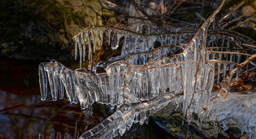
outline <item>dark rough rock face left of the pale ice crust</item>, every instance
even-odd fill
[[[209,119],[203,120],[201,125],[201,130],[199,130],[199,123],[197,119],[197,115],[193,115],[193,119],[189,125],[189,137],[188,135],[188,121],[184,120],[184,124],[182,125],[183,121],[183,114],[180,109],[175,111],[174,103],[170,102],[166,107],[162,108],[161,110],[157,111],[153,118],[158,123],[159,126],[167,130],[173,136],[182,138],[182,139],[203,139],[203,138],[210,138],[210,137],[218,137],[218,134],[221,131],[218,122],[210,121]],[[163,121],[163,120],[167,121]]]

